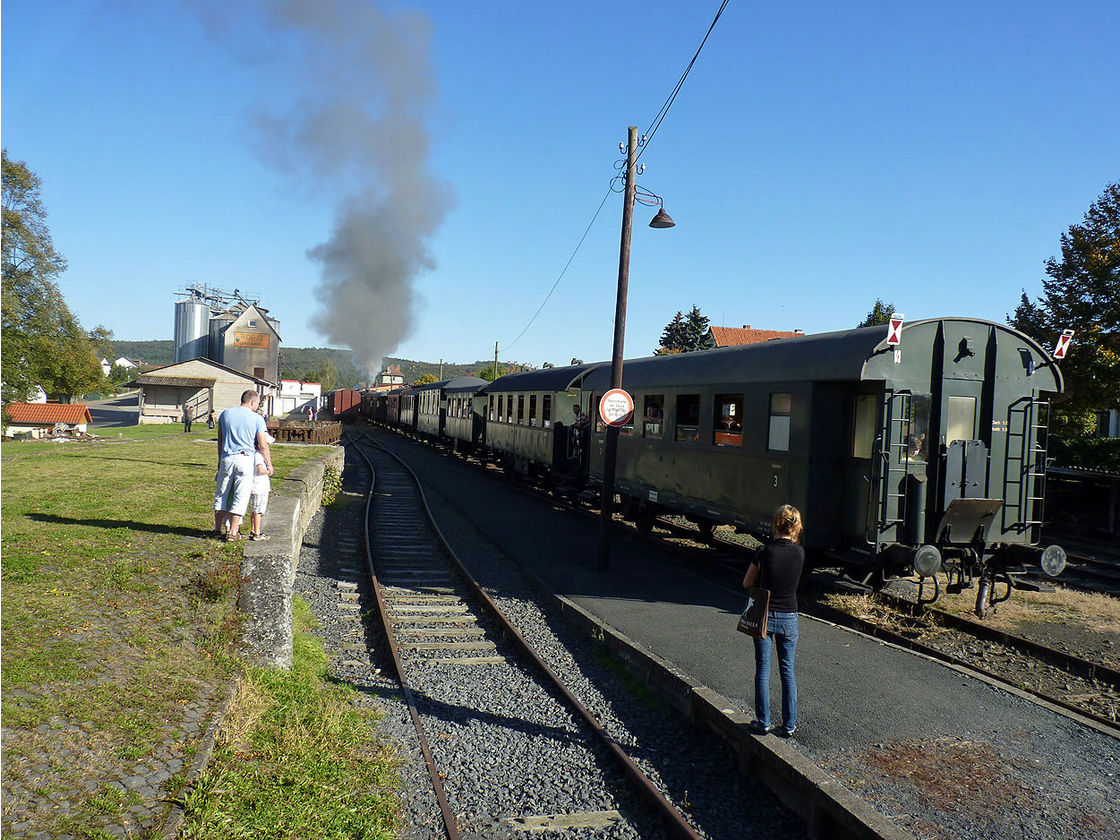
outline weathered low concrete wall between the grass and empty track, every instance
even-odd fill
[[[342,475],[344,458],[344,449],[333,447],[273,484],[262,523],[272,539],[245,543],[237,608],[243,616],[242,651],[254,665],[291,668],[291,592],[304,532],[323,503],[327,467]]]

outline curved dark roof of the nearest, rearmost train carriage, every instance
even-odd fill
[[[1011,327],[979,318],[928,318],[903,325],[903,362],[909,357],[928,364],[934,334],[945,324],[974,324],[986,333],[1006,336],[1035,360],[1035,370],[1053,374],[1049,383],[1040,382],[1039,391],[1061,392],[1062,375],[1049,354],[1037,342]],[[907,336],[911,340],[907,343]],[[979,335],[977,336],[979,339]],[[922,347],[915,353],[915,345]],[[894,345],[887,344],[887,326],[819,333],[796,338],[777,338],[759,344],[720,347],[696,353],[647,356],[627,360],[623,366],[623,386],[643,390],[675,383],[781,382],[851,382],[859,380],[892,381],[906,374],[904,365],[894,364]],[[1036,358],[1037,357],[1037,358]],[[889,364],[888,364],[889,363]],[[917,364],[917,362],[914,362]],[[589,366],[582,386],[606,391],[610,383],[610,365]],[[1026,367],[1026,366],[1024,366]],[[1029,374],[1027,374],[1029,375]]]

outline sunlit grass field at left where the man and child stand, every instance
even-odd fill
[[[214,432],[120,431],[134,437],[0,447],[3,782],[22,800],[6,796],[6,833],[26,816],[105,836],[137,806],[119,781],[138,767],[175,768],[174,796],[240,666],[242,548],[211,536]],[[273,487],[319,451],[274,446]]]

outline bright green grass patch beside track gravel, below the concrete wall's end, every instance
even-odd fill
[[[394,760],[377,717],[327,675],[321,643],[295,606],[290,672],[251,670],[224,737],[186,801],[181,838],[391,838]]]

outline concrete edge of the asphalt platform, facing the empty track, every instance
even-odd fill
[[[722,694],[696,682],[598,616],[552,591],[530,569],[523,571],[571,624],[606,644],[673,709],[693,724],[708,726],[727,741],[738,756],[740,772],[762,782],[783,805],[800,815],[810,836],[830,840],[914,840],[913,834],[781,739],[750,734],[747,729],[750,716]]]

